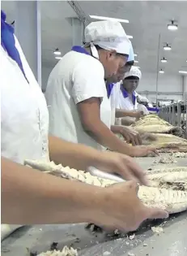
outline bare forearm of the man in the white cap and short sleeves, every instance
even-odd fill
[[[87,133],[100,145],[121,154],[131,155],[132,147],[121,141],[103,122],[91,124]]]

